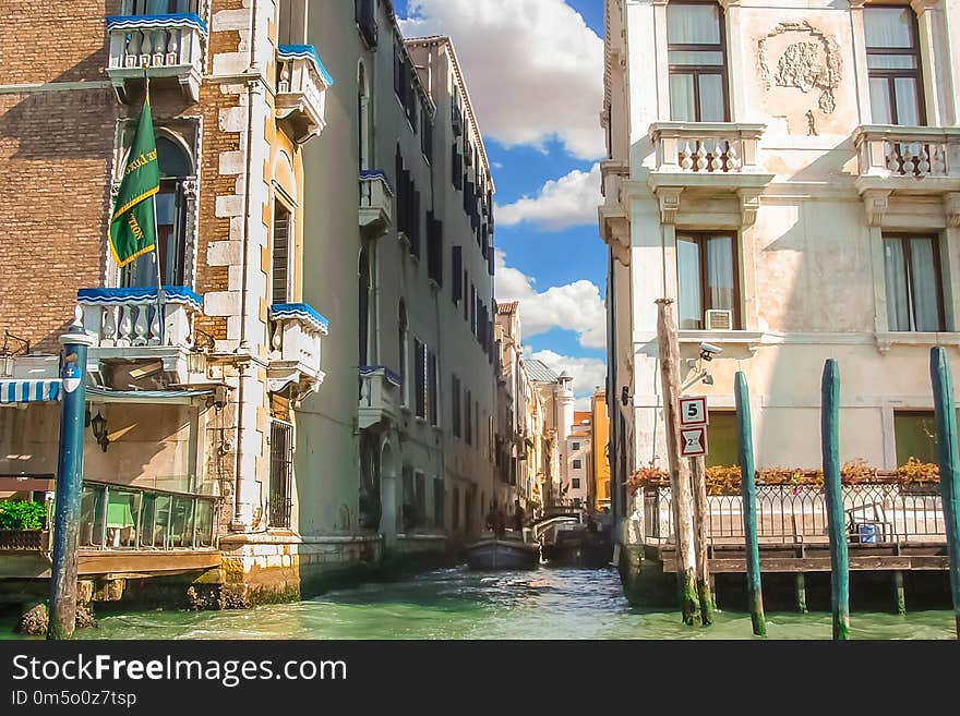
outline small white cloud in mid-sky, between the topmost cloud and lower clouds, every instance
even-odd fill
[[[496,207],[496,222],[513,227],[527,221],[545,231],[597,222],[600,204],[600,165],[589,172],[574,169],[560,179],[548,181],[536,197],[525,196],[513,204]]]

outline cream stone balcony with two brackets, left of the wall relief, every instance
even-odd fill
[[[773,175],[765,173],[759,146],[766,125],[733,122],[657,122],[650,126],[653,168],[648,183],[660,199],[661,219],[674,221],[680,194],[733,194],[742,222],[756,220],[759,195]]]

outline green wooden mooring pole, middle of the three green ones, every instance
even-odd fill
[[[824,494],[830,535],[830,602],[833,639],[850,639],[850,563],[847,555],[847,521],[840,486],[840,369],[835,359],[824,365],[820,385],[820,445],[824,453]]]

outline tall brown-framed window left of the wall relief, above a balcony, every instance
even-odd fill
[[[720,7],[705,2],[667,5],[670,119],[725,122],[727,48]]]

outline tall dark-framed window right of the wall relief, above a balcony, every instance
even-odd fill
[[[926,124],[916,15],[908,7],[863,11],[871,113],[875,124]]]

